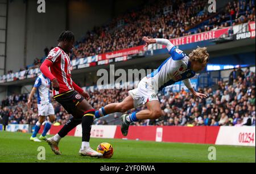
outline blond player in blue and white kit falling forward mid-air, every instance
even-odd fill
[[[166,45],[171,55],[166,61],[154,71],[154,73],[143,78],[138,84],[138,88],[129,91],[129,96],[121,103],[113,103],[99,109],[95,117],[103,117],[110,113],[125,113],[130,109],[138,108],[145,104],[147,109],[140,112],[122,115],[121,131],[124,136],[127,135],[131,122],[144,119],[158,119],[162,116],[162,109],[157,94],[164,87],[170,86],[176,82],[183,81],[185,86],[196,97],[207,98],[207,95],[196,92],[191,84],[190,78],[197,72],[203,70],[209,61],[207,48],[197,48],[188,56],[177,49],[170,40],[167,39],[148,39],[143,37],[146,46],[150,44]]]

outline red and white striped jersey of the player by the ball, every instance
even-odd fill
[[[59,91],[52,89],[52,95],[56,96],[74,90],[72,86],[73,81],[71,79],[72,65],[68,54],[57,46],[49,52],[46,59],[53,63],[51,73],[57,78],[60,86]]]

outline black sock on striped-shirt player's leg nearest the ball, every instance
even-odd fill
[[[94,109],[85,112],[82,117],[82,142],[90,141],[90,130],[92,129]]]

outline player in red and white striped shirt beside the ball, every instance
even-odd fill
[[[64,125],[59,133],[48,138],[47,142],[51,146],[52,151],[56,155],[60,155],[58,147],[60,139],[82,123],[82,146],[79,153],[84,156],[101,157],[102,154],[94,151],[89,145],[90,130],[95,113],[95,110],[87,101],[89,94],[77,86],[71,78],[72,65],[68,52],[73,47],[75,36],[71,31],[64,31],[60,34],[58,41],[58,46],[49,52],[40,70],[52,82],[54,99],[73,117]]]

